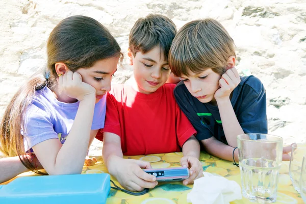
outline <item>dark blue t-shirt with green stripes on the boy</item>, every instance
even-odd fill
[[[244,133],[267,133],[265,88],[261,81],[252,75],[240,79],[240,84],[233,90],[231,103],[242,130]],[[174,96],[197,131],[198,140],[214,136],[227,144],[217,106],[201,103],[190,94],[183,81],[176,85]]]

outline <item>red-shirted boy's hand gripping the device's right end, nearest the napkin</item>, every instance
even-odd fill
[[[182,157],[181,166],[189,168],[189,178],[183,181],[184,185],[192,184],[195,179],[203,176],[202,164],[195,157]]]

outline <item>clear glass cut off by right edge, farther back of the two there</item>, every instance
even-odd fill
[[[293,144],[290,164],[289,164],[289,175],[293,187],[299,192],[299,180],[302,169],[303,156],[306,155],[306,144]]]

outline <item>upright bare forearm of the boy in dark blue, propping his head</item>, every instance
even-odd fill
[[[228,145],[237,147],[237,135],[244,134],[236,117],[231,100],[217,101],[224,135]]]

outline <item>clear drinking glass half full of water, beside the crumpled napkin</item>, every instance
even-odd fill
[[[253,202],[276,201],[283,138],[268,134],[237,136],[242,195]]]

